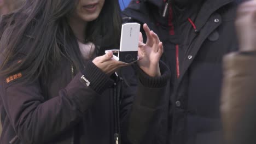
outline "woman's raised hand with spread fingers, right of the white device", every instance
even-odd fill
[[[139,34],[139,50],[138,56],[139,67],[149,76],[160,76],[159,60],[164,52],[161,41],[153,31],[150,31],[147,24],[143,25],[143,29],[147,35],[147,43],[143,43],[142,34]]]

